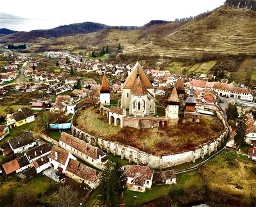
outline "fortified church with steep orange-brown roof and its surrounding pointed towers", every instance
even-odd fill
[[[179,97],[184,94],[185,87],[180,76],[168,99],[165,117],[156,118],[154,116],[157,111],[154,87],[137,61],[126,80],[122,82],[120,107],[110,104],[110,88],[104,73],[100,88],[100,111],[106,112],[109,124],[120,127],[130,126],[137,129],[145,129],[167,125],[177,126],[179,120]],[[107,107],[109,105],[111,105],[110,109]],[[198,116],[195,106],[196,99],[193,97],[193,88],[191,88],[190,96],[185,101],[184,117]]]

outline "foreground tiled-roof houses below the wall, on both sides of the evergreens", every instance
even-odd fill
[[[16,157],[24,152],[23,156],[1,166],[5,176],[16,174],[22,179],[29,179],[43,172],[55,181],[66,176],[92,189],[99,185],[100,170],[109,161],[107,154],[98,147],[65,132],[62,132],[58,146],[40,143],[31,133],[25,133],[2,144],[1,151],[4,156]],[[123,166],[123,169],[130,190],[145,192],[152,184],[176,183],[174,170],[154,172],[152,168],[138,165]]]

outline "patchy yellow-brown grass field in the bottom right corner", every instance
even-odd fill
[[[248,201],[254,195],[256,199],[256,165],[247,156],[223,152],[203,166],[202,174],[208,188],[221,192],[223,198],[233,195],[234,199]]]

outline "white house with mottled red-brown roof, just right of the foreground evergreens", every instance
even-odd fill
[[[129,190],[145,192],[151,188],[154,170],[147,166],[126,165],[123,166],[127,177],[127,188]]]

